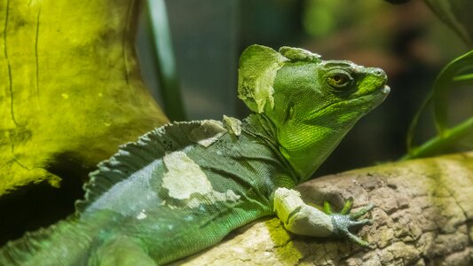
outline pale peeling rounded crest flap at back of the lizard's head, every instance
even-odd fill
[[[266,104],[274,107],[272,82],[287,61],[279,52],[262,45],[249,46],[240,57],[238,98],[256,113],[263,113]]]

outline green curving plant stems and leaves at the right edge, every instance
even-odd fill
[[[453,29],[461,39],[471,47],[473,45],[473,18],[469,15],[473,2],[463,0],[426,0],[426,4]],[[415,114],[407,133],[407,154],[403,159],[413,159],[440,153],[464,137],[473,134],[473,115],[455,126],[450,126],[448,119],[449,98],[455,85],[461,84],[471,89],[473,87],[473,51],[466,52],[453,59],[438,74],[430,94],[422,103],[418,113]],[[420,146],[412,145],[414,130],[419,121],[419,116],[429,103],[434,107],[434,119],[437,136],[431,138]]]

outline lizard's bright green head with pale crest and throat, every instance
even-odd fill
[[[380,68],[291,47],[248,47],[239,74],[239,98],[272,121],[280,152],[302,179],[390,91]]]

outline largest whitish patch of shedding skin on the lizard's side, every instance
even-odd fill
[[[232,190],[217,192],[201,167],[184,152],[168,153],[163,158],[168,172],[162,177],[162,187],[169,191],[169,197],[187,200],[189,207],[200,207],[202,202],[237,201],[240,195]],[[193,194],[195,197],[192,197]]]

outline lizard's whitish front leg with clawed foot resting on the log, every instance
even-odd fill
[[[352,234],[349,229],[372,223],[369,219],[357,221],[374,205],[368,205],[359,212],[349,214],[352,200],[347,200],[341,213],[332,213],[328,203],[324,203],[325,212],[304,203],[301,194],[295,190],[278,188],[274,192],[274,212],[284,224],[284,227],[293,233],[311,237],[338,236],[350,239],[359,246],[369,246],[369,243]]]

